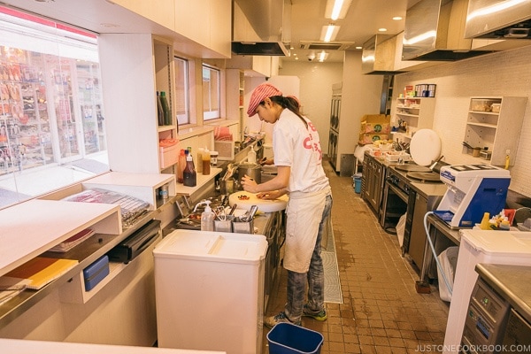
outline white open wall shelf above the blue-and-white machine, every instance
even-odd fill
[[[471,97],[464,142],[482,150],[478,159],[505,165],[508,156],[509,165],[514,164],[526,105],[527,97]],[[473,149],[463,147],[463,153],[473,154]]]

